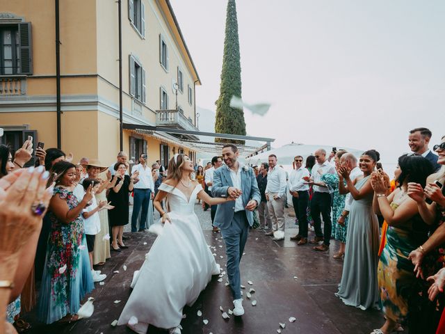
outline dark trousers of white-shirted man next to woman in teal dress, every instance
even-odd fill
[[[314,220],[314,230],[317,237],[323,237],[323,232],[321,232],[320,214],[323,216],[323,223],[325,223],[325,240],[323,241],[323,244],[329,246],[332,232],[331,196],[330,193],[320,193],[318,191],[314,191],[314,195],[312,196],[311,200],[311,216]]]

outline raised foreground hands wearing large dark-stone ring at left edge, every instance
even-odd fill
[[[17,333],[5,323],[6,304],[22,292],[33,267],[35,245],[51,191],[45,191],[48,172],[44,167],[15,170],[0,181],[0,333]],[[42,173],[43,172],[43,173]],[[26,189],[26,191],[24,191]],[[39,203],[35,205],[35,203]],[[17,326],[17,330],[26,328]]]

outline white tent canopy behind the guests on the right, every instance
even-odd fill
[[[303,159],[306,160],[309,155],[314,154],[314,152],[319,148],[323,148],[326,151],[327,156],[330,154],[330,152],[332,152],[332,146],[328,145],[305,145],[291,143],[284,145],[281,148],[275,148],[273,150],[254,155],[253,157],[246,158],[245,160],[252,166],[258,166],[262,162],[267,162],[270,154],[275,154],[277,156],[279,165],[289,166],[292,164],[293,157],[296,155],[301,155]],[[356,148],[337,147],[337,150],[346,150],[354,154],[357,158],[364,152],[364,150],[357,150]]]

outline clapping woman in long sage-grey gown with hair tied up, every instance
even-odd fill
[[[380,154],[377,151],[364,152],[359,159],[363,177],[357,177],[354,182],[350,180],[350,170],[339,166],[339,192],[350,192],[354,200],[350,206],[348,242],[339,292],[336,295],[346,305],[361,310],[376,308],[378,304],[379,228],[372,207],[374,191],[371,173],[379,160]],[[346,186],[343,179],[346,180]]]

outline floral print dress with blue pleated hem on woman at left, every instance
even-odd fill
[[[66,200],[70,210],[79,205],[72,191],[63,187],[54,188],[54,196]],[[38,318],[46,324],[76,314],[83,296],[94,289],[80,214],[70,223],[59,221],[53,212],[49,217],[51,232],[38,302]]]

